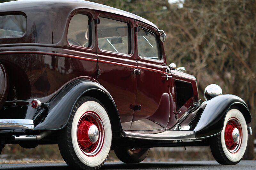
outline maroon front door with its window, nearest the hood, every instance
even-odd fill
[[[149,25],[135,22],[136,25],[136,60],[138,74],[135,105],[131,131],[164,130],[170,117],[171,79],[167,76],[167,66],[159,32]]]

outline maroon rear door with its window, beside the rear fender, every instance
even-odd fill
[[[135,105],[137,69],[134,20],[107,12],[95,12],[98,58],[97,80],[113,97],[122,128],[129,130]]]

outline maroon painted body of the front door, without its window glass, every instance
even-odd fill
[[[136,27],[146,27],[155,32],[153,28],[135,22]],[[137,38],[135,38],[137,49]],[[160,49],[163,51],[162,43]],[[170,81],[166,79],[166,63],[164,53],[161,60],[140,58],[136,51],[136,58],[140,74],[138,75],[135,105],[141,105],[141,110],[134,111],[131,129],[133,131],[159,130],[166,127],[170,117]],[[147,68],[147,69],[144,69]],[[165,73],[165,74],[163,74]],[[140,125],[141,124],[141,125]]]

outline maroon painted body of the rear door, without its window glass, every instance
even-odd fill
[[[96,18],[105,17],[116,19],[126,22],[130,25],[130,34],[132,35],[131,41],[131,54],[121,54],[115,52],[102,51],[97,46],[98,69],[100,75],[97,80],[105,87],[113,97],[121,124],[124,130],[129,130],[132,123],[133,107],[135,103],[137,76],[133,73],[133,69],[137,68],[134,41],[133,41],[133,19],[117,16],[114,14],[95,11]],[[97,26],[97,25],[96,25]],[[96,35],[97,35],[97,28]]]

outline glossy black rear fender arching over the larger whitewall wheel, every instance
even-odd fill
[[[40,113],[47,112],[46,117],[36,124],[34,130],[60,130],[68,123],[68,119],[76,102],[81,96],[92,96],[100,100],[107,108],[112,124],[113,136],[124,136],[116,104],[108,91],[98,82],[80,79],[69,83],[49,102],[48,108],[41,108]],[[45,105],[46,106],[46,105]],[[47,110],[47,111],[46,111]],[[40,116],[37,116],[40,117]],[[34,120],[36,122],[36,120]]]

